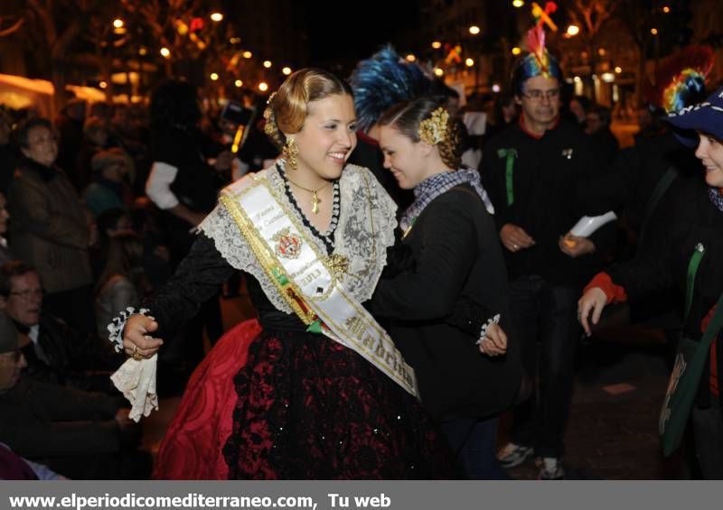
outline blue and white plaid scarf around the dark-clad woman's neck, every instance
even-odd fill
[[[410,205],[399,220],[399,227],[406,232],[414,224],[415,219],[429,205],[429,202],[436,199],[447,190],[451,190],[460,184],[469,184],[474,188],[484,207],[490,214],[494,214],[494,208],[487,192],[482,187],[480,174],[476,170],[463,168],[455,172],[436,173],[425,181],[420,182],[414,189],[414,202]]]

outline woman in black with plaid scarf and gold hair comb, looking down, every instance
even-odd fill
[[[400,221],[414,267],[382,276],[371,312],[397,320],[390,334],[465,477],[506,478],[494,457],[497,414],[520,388],[520,346],[506,334],[507,273],[480,176],[460,169],[457,125],[442,104],[414,99],[377,123],[385,167],[416,197]],[[446,320],[463,298],[482,305],[482,324]]]

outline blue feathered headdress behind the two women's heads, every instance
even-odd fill
[[[387,109],[432,91],[432,80],[415,63],[403,60],[391,45],[361,60],[349,79],[357,122],[368,131]]]

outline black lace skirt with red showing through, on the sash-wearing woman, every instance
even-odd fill
[[[418,401],[321,335],[262,332],[234,378],[229,478],[455,478]]]

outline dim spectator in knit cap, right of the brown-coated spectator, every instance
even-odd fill
[[[83,193],[83,200],[96,217],[108,209],[127,209],[131,205],[132,192],[125,179],[129,161],[127,154],[117,148],[93,156],[93,181]]]

